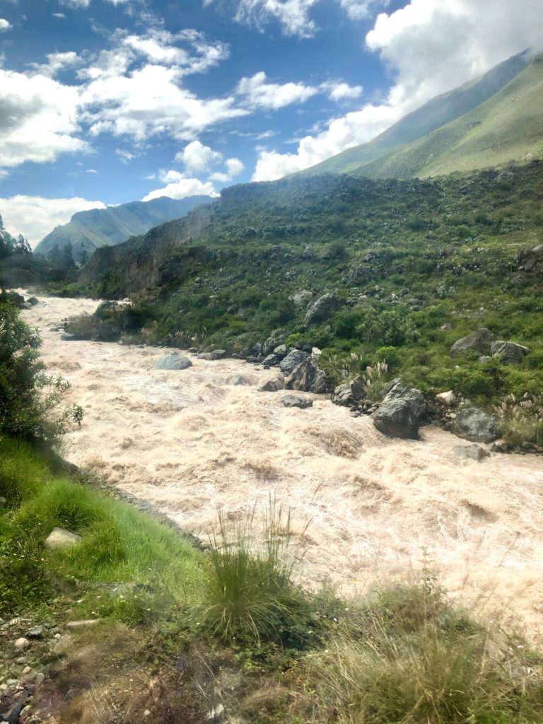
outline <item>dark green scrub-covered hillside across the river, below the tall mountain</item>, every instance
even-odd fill
[[[384,361],[424,392],[452,388],[487,406],[539,395],[541,275],[520,260],[542,242],[542,169],[533,161],[439,180],[342,175],[233,187],[201,235],[151,269],[156,286],[87,319],[87,333],[108,324],[127,341],[246,356],[275,332],[287,345],[320,348],[332,383],[355,354],[360,371]],[[160,239],[139,240],[142,269]],[[132,248],[117,248],[121,260],[80,289],[124,297]],[[342,307],[307,325],[306,308],[325,292]],[[479,327],[529,355],[519,365],[450,357],[452,342]]]

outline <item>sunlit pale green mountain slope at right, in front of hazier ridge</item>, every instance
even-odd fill
[[[542,158],[542,109],[543,55],[469,113],[355,172],[429,177]]]

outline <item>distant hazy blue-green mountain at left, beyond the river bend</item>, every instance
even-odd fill
[[[162,196],[152,201],[132,201],[107,209],[79,211],[70,222],[56,227],[44,237],[34,251],[48,256],[54,245],[61,249],[71,245],[78,261],[83,249],[90,256],[98,247],[120,244],[158,224],[178,219],[195,206],[209,201],[209,196],[190,196],[181,200]]]

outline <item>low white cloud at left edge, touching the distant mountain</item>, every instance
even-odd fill
[[[88,209],[105,209],[102,201],[86,198],[42,198],[41,196],[17,195],[0,198],[0,214],[9,232],[22,234],[30,245],[35,246],[54,227],[67,224],[72,214]]]

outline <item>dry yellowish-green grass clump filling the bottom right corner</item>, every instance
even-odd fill
[[[519,641],[453,607],[432,576],[378,590],[313,665],[316,721],[541,722],[542,671]]]

